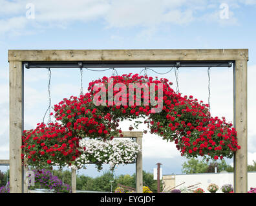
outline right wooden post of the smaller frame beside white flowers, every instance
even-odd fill
[[[136,136],[136,143],[142,149],[142,136]],[[136,193],[143,193],[142,153],[138,153],[136,159]]]

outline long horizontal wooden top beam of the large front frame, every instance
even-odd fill
[[[235,61],[248,49],[218,50],[9,50],[8,61]]]

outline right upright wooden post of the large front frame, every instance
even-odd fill
[[[248,191],[247,169],[247,61],[235,61],[234,122],[241,149],[234,156],[234,187],[236,193]]]

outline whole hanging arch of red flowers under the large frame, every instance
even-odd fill
[[[176,93],[171,85],[164,78],[131,73],[94,80],[85,95],[64,98],[54,106],[52,115],[60,122],[58,127],[63,127],[62,133],[58,133],[58,129],[52,131],[51,127],[56,127],[54,124],[39,125],[40,128],[25,131],[24,153],[21,155],[30,157],[29,163],[71,164],[80,156],[77,149],[79,139],[100,137],[107,140],[122,136],[122,130],[118,128],[120,121],[145,118],[144,124],[147,124],[150,133],[161,136],[167,142],[175,142],[182,156],[202,156],[214,160],[232,158],[235,151],[240,149],[233,125],[226,122],[224,117],[211,117],[208,104],[193,96]],[[138,122],[134,127],[137,125]],[[47,140],[48,136],[53,136],[47,142],[47,148],[50,148],[47,154],[54,153],[51,150],[54,150],[55,144],[58,148],[62,147],[57,140],[59,135],[62,136],[59,139],[64,141],[67,148],[62,147],[58,158],[39,154],[47,152],[41,146],[43,135],[47,136],[44,137]],[[34,140],[36,136],[40,140]]]

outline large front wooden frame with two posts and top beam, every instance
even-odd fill
[[[247,192],[247,62],[248,49],[219,50],[9,50],[10,192],[23,192],[21,135],[24,123],[23,64],[70,62],[233,62],[234,124],[241,149],[234,157],[235,192]]]

